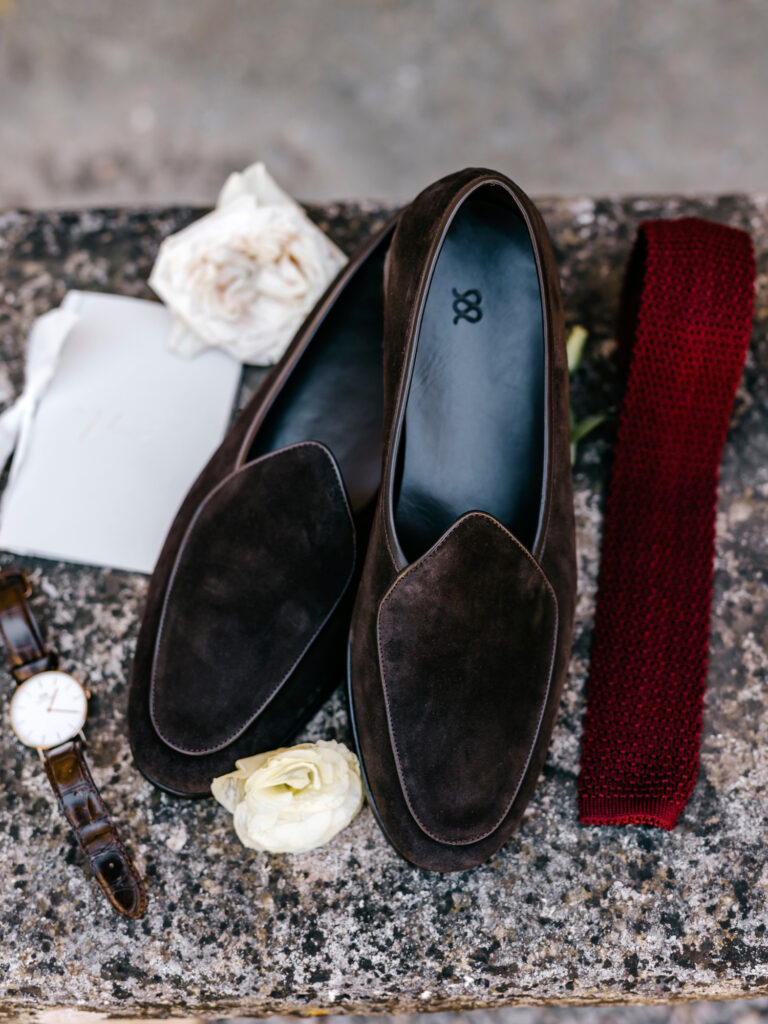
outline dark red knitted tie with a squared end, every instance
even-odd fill
[[[718,477],[750,340],[755,256],[699,218],[640,226],[605,504],[579,779],[584,824],[672,828],[698,770]]]

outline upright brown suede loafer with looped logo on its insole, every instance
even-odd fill
[[[387,256],[384,469],[348,657],[369,797],[418,866],[487,859],[544,764],[575,596],[568,432],[544,222],[504,175],[450,175]]]

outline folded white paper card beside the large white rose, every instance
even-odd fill
[[[0,443],[17,434],[0,548],[151,572],[224,435],[241,365],[169,351],[173,318],[157,302],[70,292],[58,319],[46,315],[0,422]]]

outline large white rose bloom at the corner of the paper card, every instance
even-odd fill
[[[167,238],[150,284],[175,314],[169,346],[276,362],[346,256],[263,164],[232,174],[216,209]]]

